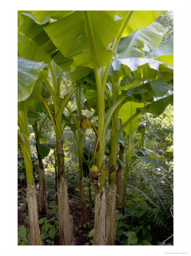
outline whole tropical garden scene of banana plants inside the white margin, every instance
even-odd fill
[[[18,11],[18,245],[173,245],[173,14]]]

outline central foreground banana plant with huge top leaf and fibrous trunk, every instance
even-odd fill
[[[121,97],[116,105],[105,114],[105,85],[107,76],[121,36],[123,34],[128,35],[128,33],[130,34],[130,32],[152,23],[160,12],[150,14],[151,16],[148,18],[149,15],[146,15],[146,13],[133,13],[133,11],[122,13],[112,11],[76,11],[66,18],[53,22],[44,28],[49,38],[64,56],[64,59],[70,60],[70,65],[75,64],[84,68],[94,68],[98,109],[96,166],[100,171],[100,185],[95,196],[94,245],[105,245],[106,241],[105,136],[114,110],[125,99],[125,97]],[[136,20],[137,15],[139,19],[142,20],[142,24],[138,22],[138,19]],[[129,23],[130,18],[132,18],[131,23]],[[134,19],[137,22],[135,22]],[[76,24],[77,20],[78,26],[76,27],[74,24]],[[107,24],[107,26],[101,26],[103,22]],[[62,27],[62,31],[60,31],[60,27]],[[70,31],[70,33],[67,32],[67,37],[65,38],[58,38],[58,31],[63,34],[65,34],[66,31]],[[112,46],[113,40],[114,43]],[[71,42],[73,47],[71,47]],[[111,46],[109,47],[110,44]],[[58,56],[61,56],[60,52],[54,57],[56,62],[58,61]],[[109,214],[109,217],[110,216],[111,214]],[[113,224],[113,220],[111,222]],[[110,230],[112,236],[115,232],[114,225],[113,230]],[[108,240],[108,238],[106,239]],[[112,242],[107,241],[106,244],[110,243],[113,243],[113,240]]]

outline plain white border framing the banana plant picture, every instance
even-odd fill
[[[174,246],[17,246],[17,10],[172,10],[175,42]],[[190,11],[189,1],[1,2],[1,255],[190,255]]]

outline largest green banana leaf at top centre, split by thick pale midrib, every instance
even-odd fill
[[[89,15],[97,64],[100,68],[107,65],[113,55],[111,49],[107,50],[107,48],[117,36],[122,20],[115,21],[105,11],[90,11]],[[49,24],[45,27],[45,31],[63,56],[74,56],[77,65],[94,68],[83,11],[75,11],[70,16]]]

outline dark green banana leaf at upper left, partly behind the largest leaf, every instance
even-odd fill
[[[51,11],[50,11],[51,12]],[[49,24],[49,22],[39,24],[33,14],[21,13],[19,18],[19,29],[18,29],[18,46],[19,46],[19,55],[21,57],[31,56],[35,57],[35,60],[42,60],[45,63],[49,63],[50,56],[55,63],[60,65],[63,71],[69,71],[75,67],[74,60],[69,57],[65,58],[60,51],[54,46],[49,36],[44,31],[44,27]],[[26,40],[24,40],[26,39]],[[28,42],[28,40],[29,43]],[[34,46],[31,49],[32,45]],[[36,51],[36,54],[33,54],[33,51]],[[28,59],[31,59],[31,56]]]

